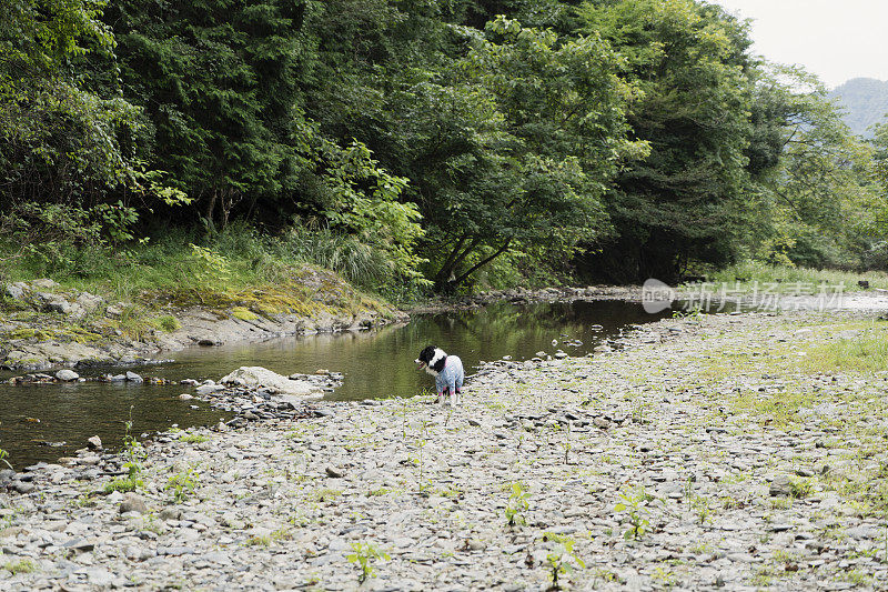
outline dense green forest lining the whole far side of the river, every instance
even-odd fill
[[[10,277],[307,261],[408,299],[888,267],[888,128],[705,1],[0,3]]]

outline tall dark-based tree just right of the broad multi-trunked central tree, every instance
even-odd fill
[[[744,228],[751,63],[746,27],[693,0],[603,0],[578,9],[582,31],[624,58],[640,90],[630,138],[650,154],[606,195],[614,232],[583,258],[613,282],[675,280],[693,258],[724,262]]]

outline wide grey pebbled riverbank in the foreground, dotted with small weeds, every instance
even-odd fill
[[[888,374],[824,357],[884,331],[670,319],[487,364],[456,410],[306,402],[84,451],[0,494],[3,586],[347,590],[363,561],[372,590],[885,589]]]

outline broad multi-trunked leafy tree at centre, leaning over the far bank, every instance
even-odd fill
[[[558,39],[498,18],[451,77],[405,90],[395,133],[416,182],[438,290],[509,250],[569,253],[606,221],[601,197],[624,159],[630,90],[597,37]],[[412,149],[412,152],[407,149]]]

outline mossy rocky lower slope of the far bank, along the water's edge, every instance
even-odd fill
[[[190,345],[359,331],[408,319],[332,272],[305,268],[300,282],[297,290],[226,294],[203,304],[192,302],[200,294],[117,302],[50,279],[11,283],[0,290],[0,369],[134,364]]]

